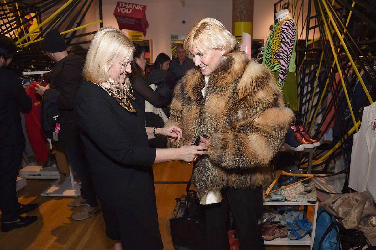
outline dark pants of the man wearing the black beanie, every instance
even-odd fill
[[[80,177],[82,198],[90,206],[95,207],[97,205],[97,193],[91,179],[89,164],[83,146],[64,146],[64,150],[68,155],[73,171]]]

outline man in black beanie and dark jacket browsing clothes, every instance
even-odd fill
[[[51,72],[43,74],[43,79],[50,85],[46,87],[37,85],[35,89],[40,95],[49,95],[49,88],[61,92],[56,102],[60,113],[56,122],[60,124],[60,130],[55,131],[58,132],[57,138],[51,139],[54,139],[57,144],[57,150],[59,147],[64,147],[74,172],[80,177],[81,195],[69,202],[68,206],[83,206],[80,211],[73,213],[71,218],[84,220],[101,211],[74,117],[74,97],[83,80],[81,72],[84,60],[73,53],[68,54],[64,38],[57,29],[46,33],[42,41],[42,48],[56,64]],[[43,97],[42,102],[46,97]]]

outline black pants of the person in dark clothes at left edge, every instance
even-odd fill
[[[22,160],[25,145],[0,147],[0,210],[1,221],[11,222],[18,219],[20,208],[16,196],[17,172]]]

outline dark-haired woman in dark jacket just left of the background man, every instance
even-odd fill
[[[146,75],[150,83],[158,83],[165,80],[168,88],[174,90],[176,81],[174,75],[168,71],[170,68],[170,57],[165,53],[160,53],[154,62],[154,67],[149,74]]]

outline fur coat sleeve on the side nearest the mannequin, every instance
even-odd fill
[[[234,115],[229,116],[235,129],[209,136],[211,161],[227,169],[270,164],[294,120],[275,82],[262,65],[246,69],[235,92],[239,100]]]

